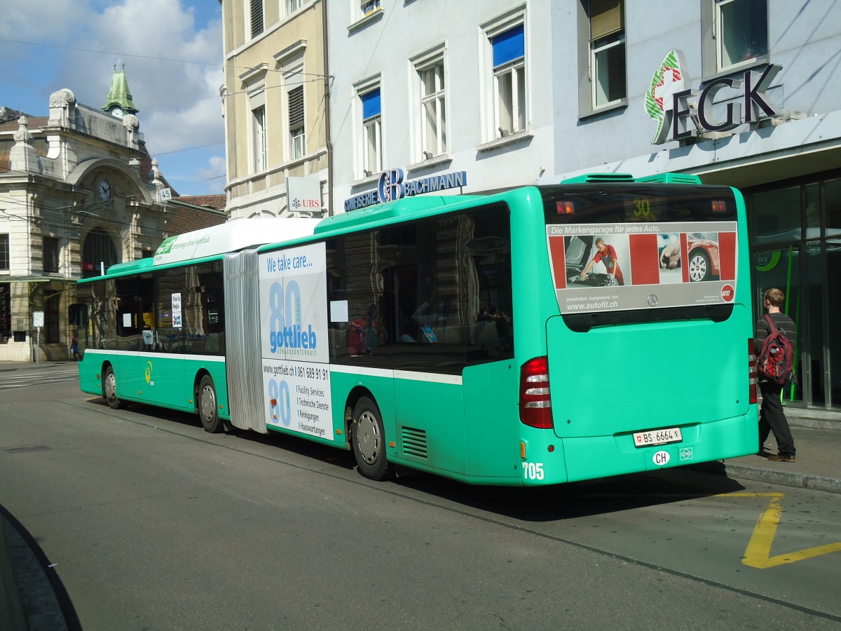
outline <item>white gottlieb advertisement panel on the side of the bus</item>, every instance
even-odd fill
[[[267,423],[331,439],[325,244],[262,252],[260,347]]]

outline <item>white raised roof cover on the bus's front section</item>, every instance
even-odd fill
[[[269,219],[256,217],[238,219],[225,224],[213,225],[182,235],[171,236],[155,252],[155,265],[192,261],[196,258],[212,257],[236,252],[246,247],[262,246],[277,241],[310,236],[318,219],[291,217]]]

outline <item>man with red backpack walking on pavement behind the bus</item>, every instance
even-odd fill
[[[791,379],[791,354],[788,357],[788,368],[780,369],[778,366],[775,374],[766,371],[763,374],[762,364],[766,366],[775,362],[775,358],[768,357],[771,352],[769,347],[779,348],[783,346],[780,342],[792,342],[796,337],[796,326],[788,315],[780,311],[785,295],[780,289],[771,288],[764,294],[764,309],[768,315],[764,315],[756,323],[756,334],[754,335],[754,351],[758,358],[759,368],[759,391],[762,393],[762,407],[759,410],[759,452],[763,451],[763,444],[770,432],[774,432],[777,439],[777,453],[768,457],[775,462],[794,462],[795,447],[794,438],[791,437],[791,429],[788,421],[785,420],[780,395],[783,386]],[[778,333],[785,336],[786,341],[780,340]],[[769,342],[769,343],[766,343]],[[763,355],[763,351],[765,357]],[[785,347],[784,353],[791,353],[791,343]]]

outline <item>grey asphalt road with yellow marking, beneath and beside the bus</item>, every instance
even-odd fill
[[[84,629],[841,628],[838,495],[674,469],[374,483],[351,453],[26,373],[0,374],[0,506]]]

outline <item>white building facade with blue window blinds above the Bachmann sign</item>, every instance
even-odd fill
[[[335,212],[380,174],[474,193],[554,172],[556,3],[327,3]]]

